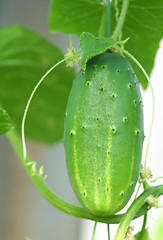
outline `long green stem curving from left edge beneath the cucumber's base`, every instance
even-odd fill
[[[110,217],[97,217],[87,212],[86,209],[74,206],[70,203],[65,202],[61,198],[59,198],[56,194],[52,192],[52,190],[47,186],[45,180],[35,174],[31,174],[31,168],[32,166],[28,163],[32,162],[29,156],[27,155],[26,162],[23,159],[23,148],[22,144],[19,138],[19,135],[17,134],[16,130],[11,130],[7,134],[8,140],[12,144],[12,147],[14,148],[16,154],[18,155],[21,164],[25,168],[27,174],[31,178],[33,184],[36,186],[38,191],[42,194],[42,196],[54,207],[58,208],[64,213],[67,213],[71,216],[78,217],[78,218],[84,218],[88,220],[92,220],[95,222],[102,222],[107,224],[118,224],[121,222],[124,214],[117,214]],[[157,188],[152,188],[150,194],[157,195]],[[144,215],[148,211],[148,205],[145,204],[143,207],[138,211],[138,213],[135,215],[134,218],[138,218],[142,215]]]

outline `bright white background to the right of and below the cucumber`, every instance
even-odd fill
[[[147,167],[153,174],[153,179],[158,176],[163,176],[163,40],[160,42],[160,48],[156,54],[154,68],[150,77],[154,88],[155,95],[155,119],[152,131],[152,137],[150,141],[150,147],[147,158]],[[151,126],[152,118],[152,95],[151,89],[148,87],[146,91],[142,90],[142,98],[144,104],[144,132],[145,132],[145,142],[143,149],[142,162],[145,159],[147,141]],[[158,180],[153,185],[159,185],[163,182],[163,179]],[[141,189],[142,190],[142,189]],[[139,191],[139,194],[141,193]],[[132,196],[133,200],[134,194]],[[132,201],[129,202],[127,206],[130,206]],[[163,198],[160,197],[160,203],[163,205]],[[124,208],[121,212],[125,212],[127,208]],[[152,239],[154,239],[155,227],[157,227],[159,220],[163,219],[163,210],[153,208],[148,212],[148,222],[147,226],[151,233]],[[134,234],[141,230],[143,218],[138,218],[131,223],[131,226],[135,227]],[[92,237],[94,222],[82,220],[80,228],[80,238],[79,240],[90,240]],[[115,232],[118,225],[110,225],[110,237],[111,240],[114,239]],[[95,240],[107,240],[107,225],[98,223],[96,228]]]

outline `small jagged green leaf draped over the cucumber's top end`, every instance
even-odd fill
[[[99,38],[94,37],[90,33],[82,33],[80,36],[80,44],[78,51],[81,54],[80,63],[83,70],[86,69],[86,62],[91,57],[114,47],[117,43],[112,38]]]

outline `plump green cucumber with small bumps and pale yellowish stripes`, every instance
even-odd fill
[[[70,183],[89,212],[111,216],[127,204],[143,140],[142,98],[129,62],[115,53],[93,57],[73,82],[64,126]]]

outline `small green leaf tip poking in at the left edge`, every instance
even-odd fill
[[[15,123],[11,120],[10,116],[0,106],[0,135],[8,132],[15,127]]]

